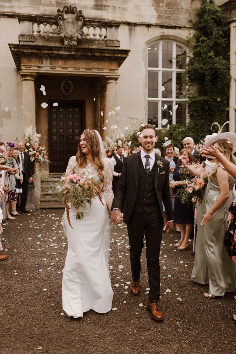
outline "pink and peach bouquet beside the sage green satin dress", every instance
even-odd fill
[[[180,201],[183,204],[186,202],[191,203],[192,200],[195,200],[195,207],[195,203],[197,201],[201,202],[203,199],[203,195],[207,186],[206,174],[203,173],[202,175],[193,178],[185,178],[184,181],[187,183],[187,185],[177,191],[177,196],[180,198]]]

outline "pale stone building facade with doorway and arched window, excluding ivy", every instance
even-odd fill
[[[233,18],[236,1],[215,2]],[[185,54],[190,19],[200,5],[201,0],[0,0],[0,141],[21,139],[25,126],[36,125],[52,161],[44,173],[61,173],[85,127],[104,137],[132,131],[140,122],[188,122]],[[235,131],[234,20],[229,25]]]

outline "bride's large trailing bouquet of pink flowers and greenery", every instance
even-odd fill
[[[52,188],[48,191],[50,194],[57,194],[58,199],[63,202],[67,212],[67,220],[70,222],[70,205],[76,210],[76,220],[84,218],[83,210],[87,208],[87,203],[92,204],[92,200],[98,196],[102,202],[102,193],[104,191],[103,175],[97,177],[91,173],[74,173],[72,175],[63,175],[61,180],[53,182]]]

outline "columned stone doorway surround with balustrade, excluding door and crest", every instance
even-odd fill
[[[85,18],[81,28],[84,34],[78,38],[77,45],[65,46],[63,38],[58,34],[59,26],[54,16],[19,15],[18,21],[21,24],[19,44],[9,44],[9,47],[22,77],[23,125],[35,126],[37,122],[37,132],[41,133],[38,129],[40,117],[36,117],[38,107],[35,100],[35,80],[38,76],[92,77],[97,79],[97,86],[93,91],[93,119],[85,116],[85,124],[88,128],[95,127],[103,137],[105,119],[117,106],[119,67],[129,53],[129,50],[119,49],[120,22]],[[103,116],[100,114],[102,111]],[[110,127],[116,124],[116,119],[116,114],[109,117],[107,136],[111,136]],[[48,169],[43,172],[47,175]],[[40,178],[35,180],[38,182],[35,185],[37,193],[34,204],[39,209]]]

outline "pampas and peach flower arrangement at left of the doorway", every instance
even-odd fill
[[[40,165],[48,165],[50,161],[48,160],[45,146],[40,146],[40,138],[41,134],[36,132],[36,126],[33,128],[31,125],[25,129],[25,135],[23,136],[24,151],[29,154],[30,161],[34,164],[39,162]]]

